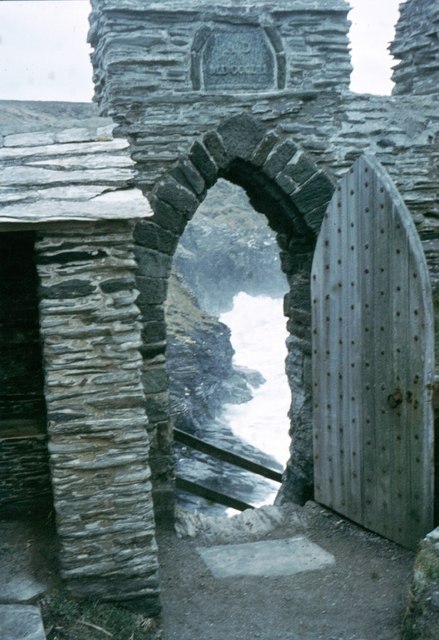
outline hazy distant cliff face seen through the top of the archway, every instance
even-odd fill
[[[242,189],[218,181],[186,227],[175,265],[200,306],[219,314],[240,291],[280,297],[287,290],[279,249],[264,216]]]

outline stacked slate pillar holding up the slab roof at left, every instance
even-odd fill
[[[61,571],[79,596],[158,612],[157,553],[130,222],[36,242]]]

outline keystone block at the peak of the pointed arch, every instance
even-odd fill
[[[265,137],[266,129],[261,122],[243,113],[220,125],[218,132],[229,156],[251,160],[256,147]]]

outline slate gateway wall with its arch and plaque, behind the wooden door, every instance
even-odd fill
[[[148,316],[152,309],[142,310],[149,327],[164,335],[159,307],[174,246],[218,177],[241,185],[278,232],[291,288],[285,313],[293,391],[282,499],[304,499],[312,485],[309,269],[329,185],[361,153],[373,153],[413,214],[439,291],[436,99],[348,91],[349,7],[342,0],[289,0],[282,7],[260,0],[214,7],[168,0],[147,8],[141,0],[93,0],[92,6],[96,100],[118,123],[117,135],[129,140],[136,183],[154,210],[142,240],[147,252],[139,258],[148,295],[154,288],[155,320]],[[259,38],[259,57],[247,65],[238,31],[244,43],[250,34],[254,42]],[[226,51],[240,68],[227,66]],[[254,67],[263,64],[271,75],[263,86],[252,84]],[[148,350],[163,357],[164,343],[158,335],[154,340],[160,351],[146,347],[146,368]],[[157,423],[165,425],[161,380]],[[149,395],[153,387],[144,382]],[[168,427],[165,433],[162,461],[168,459]],[[168,472],[171,477],[165,467],[164,482]]]

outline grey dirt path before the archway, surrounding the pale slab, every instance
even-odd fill
[[[159,534],[163,640],[399,640],[414,554],[308,503],[271,531]],[[253,527],[257,529],[258,527]],[[245,529],[245,527],[244,527]],[[334,566],[216,579],[197,547],[305,535]]]

